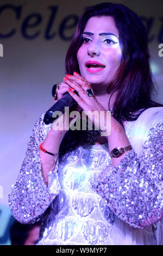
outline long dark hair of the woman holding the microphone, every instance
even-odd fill
[[[80,74],[77,52],[83,44],[82,34],[86,23],[93,16],[113,17],[119,31],[122,60],[114,80],[108,84],[107,92],[112,96],[118,90],[114,118],[123,126],[122,116],[134,121],[145,109],[163,106],[152,100],[156,90],[149,64],[147,31],[139,16],[122,4],[101,3],[87,8],[80,17],[66,54],[66,74],[73,75],[74,71]],[[132,114],[139,109],[142,109],[139,114]],[[60,152],[64,153],[83,143],[85,136],[82,132],[68,131],[60,145]]]

